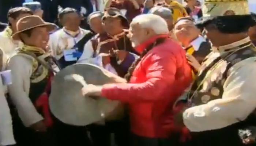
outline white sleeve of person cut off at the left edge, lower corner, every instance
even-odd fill
[[[14,145],[14,135],[12,130],[12,118],[8,107],[4,88],[0,77],[0,146]]]

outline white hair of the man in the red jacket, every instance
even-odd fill
[[[142,14],[132,19],[132,24],[139,24],[142,28],[151,28],[156,34],[168,34],[168,26],[165,19],[154,14]]]

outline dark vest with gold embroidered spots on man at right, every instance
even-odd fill
[[[221,99],[223,85],[230,74],[232,66],[249,57],[255,57],[255,46],[245,42],[239,46],[226,49],[222,55],[207,59],[188,94],[188,101],[193,105],[206,104],[211,100]]]

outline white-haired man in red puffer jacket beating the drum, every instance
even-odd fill
[[[137,16],[130,30],[141,57],[126,76],[129,83],[87,85],[82,92],[128,103],[132,146],[171,146],[169,136],[177,131],[172,107],[192,82],[185,51],[168,38],[167,24],[160,16]]]

